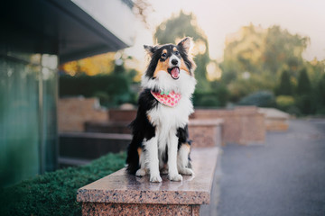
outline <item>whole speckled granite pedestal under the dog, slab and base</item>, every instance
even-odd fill
[[[200,215],[200,205],[209,204],[218,148],[195,148],[191,153],[195,175],[183,175],[162,183],[149,176],[128,175],[125,168],[78,190],[83,215]]]

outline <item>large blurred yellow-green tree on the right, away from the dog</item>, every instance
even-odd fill
[[[292,94],[291,77],[283,77],[287,80],[276,87],[277,75],[283,76],[280,72],[287,70],[292,79],[298,76],[297,71],[304,66],[302,51],[308,42],[308,37],[291,34],[279,26],[263,29],[250,24],[228,35],[220,67],[221,80],[228,85],[231,100],[236,102],[246,94],[278,88],[284,94]]]

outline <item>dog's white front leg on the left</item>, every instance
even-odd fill
[[[162,177],[159,174],[159,159],[158,159],[158,139],[153,137],[144,142],[144,148],[148,151],[147,160],[150,170],[151,182],[162,182]]]

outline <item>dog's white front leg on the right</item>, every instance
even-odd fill
[[[178,138],[176,132],[171,130],[168,140],[168,178],[178,182],[182,180],[182,176],[177,170],[177,145]]]

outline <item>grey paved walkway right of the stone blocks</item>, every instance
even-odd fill
[[[325,120],[290,121],[265,146],[228,145],[218,216],[325,215]]]

